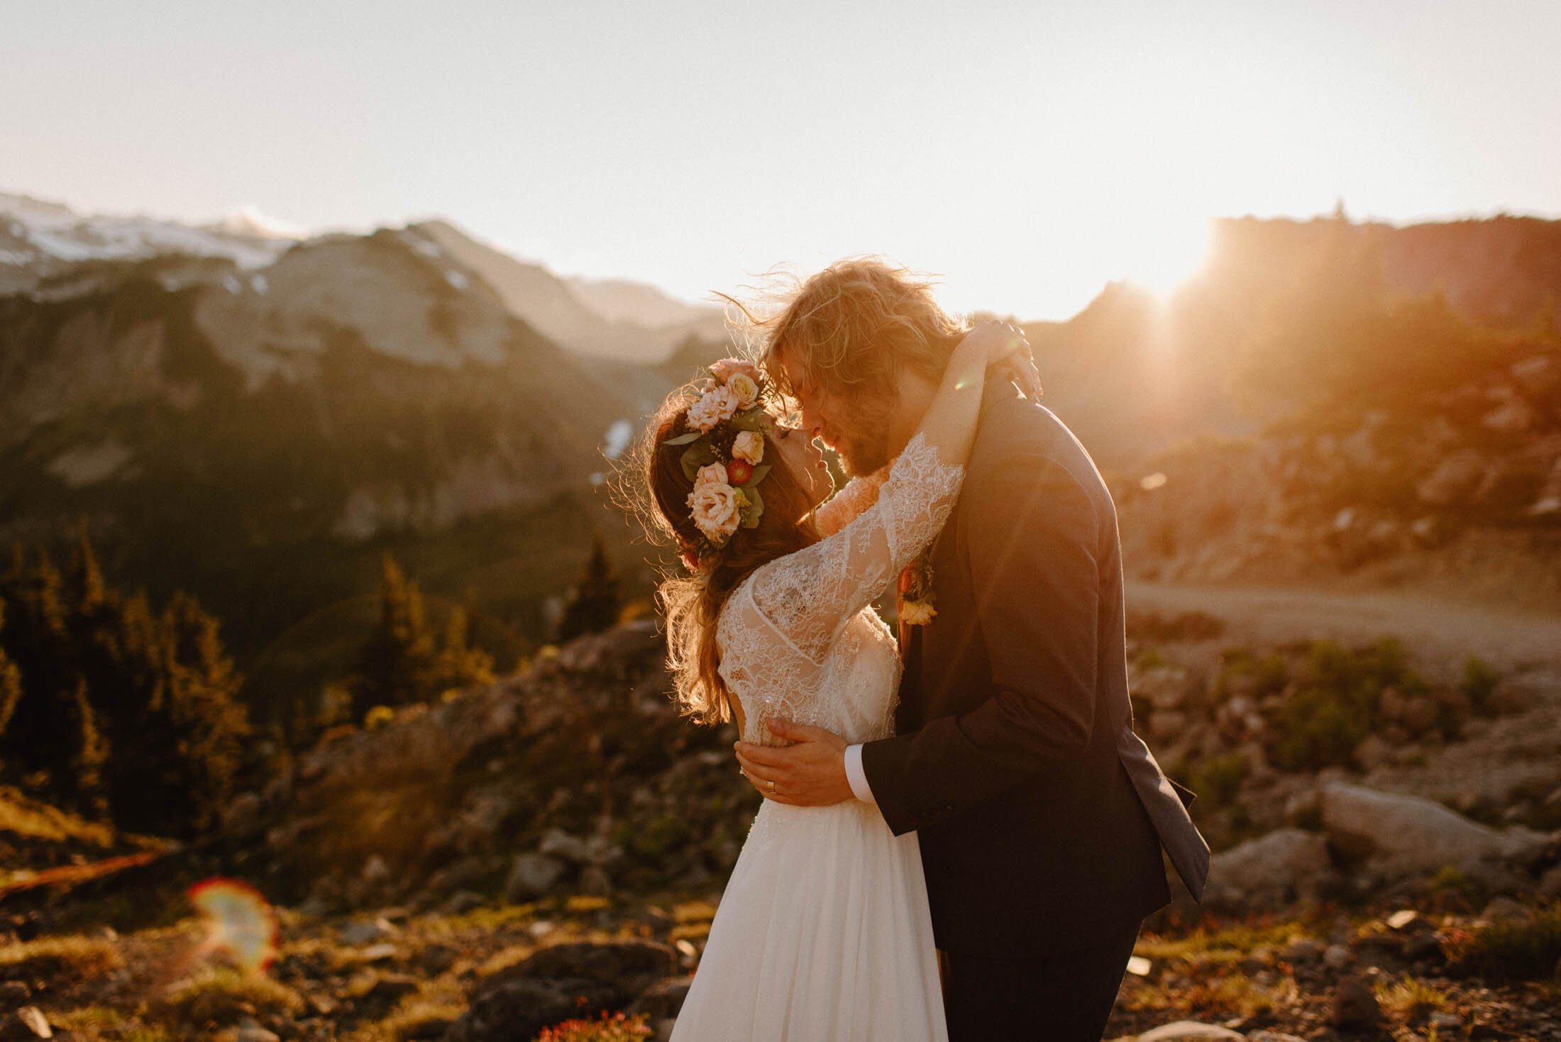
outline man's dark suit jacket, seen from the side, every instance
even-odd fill
[[[937,618],[901,627],[894,738],[862,767],[915,830],[938,947],[1030,958],[1194,897],[1208,844],[1133,733],[1116,509],[1051,410],[988,381],[930,549]]]

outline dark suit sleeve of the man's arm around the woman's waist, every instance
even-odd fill
[[[1068,763],[1093,738],[1101,519],[1090,496],[1066,468],[1030,452],[973,470],[963,494],[957,549],[976,587],[973,633],[991,663],[991,697],[863,747],[896,835]]]

